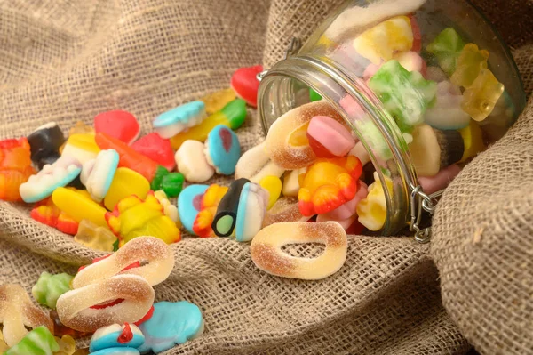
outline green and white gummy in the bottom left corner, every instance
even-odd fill
[[[53,355],[60,351],[60,344],[47,327],[36,327],[4,355]]]

